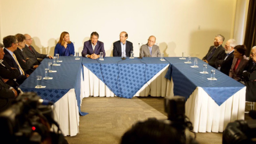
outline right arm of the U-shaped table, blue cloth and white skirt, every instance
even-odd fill
[[[198,67],[180,58],[165,58],[170,67],[166,73],[169,79],[166,96],[181,95],[186,98],[185,114],[193,123],[195,132],[223,132],[229,122],[244,119],[246,87],[207,66],[209,74],[201,74],[204,61],[198,60]],[[211,70],[215,70],[217,81],[209,81]]]

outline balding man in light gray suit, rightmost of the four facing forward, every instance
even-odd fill
[[[156,37],[150,36],[148,43],[140,47],[140,57],[161,57],[159,46],[154,45],[156,43]]]

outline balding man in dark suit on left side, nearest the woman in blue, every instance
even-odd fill
[[[34,63],[34,65],[39,65],[39,63],[41,61],[38,60],[39,59],[44,59],[44,58],[50,58],[50,59],[53,59],[53,57],[50,55],[50,54],[41,54],[41,53],[38,53],[35,48],[31,45],[32,44],[32,41],[33,41],[33,38],[31,38],[30,35],[28,34],[25,34],[24,35],[26,37],[26,45],[25,45],[25,48],[23,49],[23,51],[27,54],[27,57],[28,58],[34,58],[36,59],[37,61]]]

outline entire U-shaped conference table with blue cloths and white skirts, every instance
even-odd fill
[[[85,97],[134,96],[186,97],[186,115],[195,132],[222,132],[227,123],[244,118],[245,86],[216,70],[217,81],[209,81],[209,74],[200,74],[199,68],[177,58],[143,58],[122,60],[105,57],[103,61],[80,57],[60,57],[49,73],[53,79],[43,79],[43,89],[36,89],[36,76],[44,77],[44,69],[52,59],[41,65],[20,86],[24,92],[37,92],[42,99],[54,103],[54,119],[64,135],[79,132],[81,101]],[[208,66],[208,71],[210,70]]]

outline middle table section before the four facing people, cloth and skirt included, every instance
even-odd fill
[[[165,97],[165,74],[170,63],[159,59],[105,57],[100,61],[84,58],[83,97]]]

